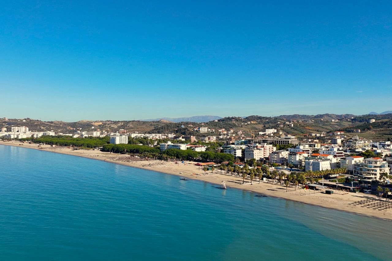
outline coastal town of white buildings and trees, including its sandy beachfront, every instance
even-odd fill
[[[189,123],[180,128],[192,129],[194,136],[127,129],[106,132],[99,126],[55,133],[31,131],[23,119],[4,122],[0,132],[4,145],[96,157],[224,187],[246,185],[247,190],[263,189],[263,194],[301,202],[306,198],[306,203],[321,206],[325,200],[363,195],[361,199],[350,198],[352,202],[346,201],[342,207],[357,214],[374,216],[371,212],[378,212],[385,216],[392,209],[388,203],[392,190],[391,141],[372,141],[352,132],[294,136],[281,131],[279,124],[247,136],[240,129],[211,129],[208,123]],[[380,200],[384,202],[381,205]],[[362,201],[367,202],[365,208],[354,207]]]

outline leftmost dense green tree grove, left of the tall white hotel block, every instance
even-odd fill
[[[45,143],[49,145],[96,148],[107,144],[109,137],[72,138],[70,136],[41,136],[35,139],[29,138],[29,140],[34,143]]]

